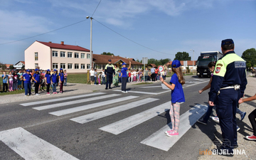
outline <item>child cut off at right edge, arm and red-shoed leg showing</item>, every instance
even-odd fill
[[[252,97],[248,97],[248,98],[245,98],[245,99],[240,99],[238,101],[239,104],[241,104],[242,102],[247,102],[247,101],[251,101],[251,100],[256,100],[256,94]],[[253,133],[251,136],[247,136],[245,137],[246,139],[248,140],[252,140],[252,141],[256,141],[256,109],[253,110],[249,116],[248,116],[249,120],[250,120],[250,123],[252,124],[252,129],[253,129]]]

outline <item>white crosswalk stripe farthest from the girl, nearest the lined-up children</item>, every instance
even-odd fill
[[[103,95],[103,94],[106,94],[106,93],[105,92],[95,92],[95,93],[91,93],[91,94],[87,94],[87,95],[76,95],[76,96],[71,96],[71,97],[56,98],[56,99],[53,99],[53,100],[42,100],[42,101],[37,101],[37,102],[22,103],[20,105],[23,105],[23,106],[40,105],[40,104],[49,103],[49,102],[58,102],[58,101],[62,101],[62,100],[72,100],[72,99],[80,98],[80,97],[90,97],[90,96],[94,96],[94,95]]]

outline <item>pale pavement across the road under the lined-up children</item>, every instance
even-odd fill
[[[171,77],[166,78],[166,80],[171,80]],[[151,82],[151,81],[148,81]],[[127,82],[127,88],[130,86],[141,83],[141,82]],[[158,80],[157,82],[154,83],[159,83],[160,81]],[[68,95],[78,95],[82,93],[88,93],[88,92],[96,92],[96,91],[103,91],[105,90],[106,85],[87,85],[87,84],[80,84],[80,83],[68,83],[67,86],[63,86],[63,94],[58,93],[57,95],[46,95],[46,91],[39,91],[38,93],[40,96],[36,95],[31,95],[28,97],[25,97],[24,93],[20,94],[14,94],[14,95],[0,95],[0,104],[6,104],[10,102],[22,102],[22,101],[27,101],[27,100],[43,100],[48,97],[63,97],[63,96],[68,96]],[[114,87],[111,85],[113,88],[112,90],[121,90],[121,83],[119,86]],[[44,87],[46,90],[46,87]],[[60,87],[57,87],[57,92],[59,92]],[[52,90],[50,90],[50,93],[52,93]]]

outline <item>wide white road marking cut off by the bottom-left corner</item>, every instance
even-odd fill
[[[0,140],[26,160],[78,160],[74,156],[36,137],[21,127],[0,132]]]

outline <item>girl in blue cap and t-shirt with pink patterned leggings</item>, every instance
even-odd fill
[[[178,136],[178,125],[179,125],[179,111],[181,102],[185,102],[185,97],[183,93],[182,85],[185,84],[185,80],[181,71],[181,63],[178,60],[174,60],[171,63],[171,70],[174,72],[174,75],[171,77],[171,85],[164,81],[164,78],[160,78],[160,81],[171,89],[171,126],[172,129],[166,131],[166,135],[169,137]]]

